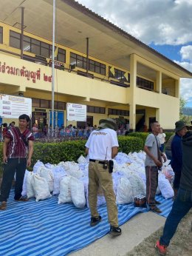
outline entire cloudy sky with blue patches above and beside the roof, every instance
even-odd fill
[[[192,72],[192,0],[78,0],[135,38]],[[192,78],[180,95],[192,107]]]

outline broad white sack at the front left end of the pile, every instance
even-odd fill
[[[45,178],[40,177],[38,174],[33,175],[32,181],[33,189],[35,191],[36,202],[51,198],[49,186]]]

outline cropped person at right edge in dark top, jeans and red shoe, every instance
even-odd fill
[[[180,123],[181,124],[181,123]],[[173,238],[176,228],[192,207],[192,132],[187,132],[182,137],[182,175],[178,195],[172,206],[171,212],[165,221],[163,234],[157,240],[155,247],[160,255],[166,255],[168,245]]]

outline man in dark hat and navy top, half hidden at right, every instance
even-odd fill
[[[174,198],[176,198],[177,191],[179,189],[179,183],[182,172],[182,136],[187,132],[187,126],[183,121],[176,121],[175,123],[175,135],[171,143],[171,167],[174,169]]]

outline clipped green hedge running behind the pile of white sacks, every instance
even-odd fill
[[[139,152],[143,149],[141,138],[131,138],[129,136],[118,136],[119,152],[128,154],[129,152]],[[44,164],[58,164],[61,161],[77,161],[80,155],[85,155],[86,141],[64,141],[59,143],[34,144],[32,155],[32,166],[40,160]],[[0,177],[2,176],[2,143],[0,143]]]

